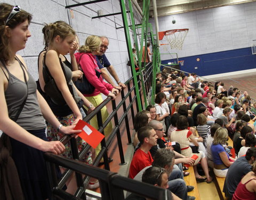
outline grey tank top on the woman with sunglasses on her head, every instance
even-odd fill
[[[26,98],[27,85],[25,82],[13,76],[6,67],[5,69],[9,75],[9,83],[6,91],[4,92],[5,99],[9,117],[10,119],[14,119],[19,110],[19,107],[22,105]],[[28,73],[26,68],[25,70],[28,74],[28,97],[16,123],[23,127],[25,130],[44,129],[46,124],[41,113],[41,109],[38,105],[36,82],[34,78]]]

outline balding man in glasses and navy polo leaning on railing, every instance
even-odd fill
[[[116,89],[121,90],[121,87],[123,87],[123,89],[124,89],[125,84],[123,84],[120,81],[120,79],[118,78],[118,76],[116,74],[116,70],[115,70],[114,66],[110,64],[110,62],[108,61],[108,59],[105,55],[105,52],[108,49],[109,40],[106,36],[100,36],[100,38],[101,38],[102,43],[100,46],[100,54],[97,55],[96,60],[97,60],[98,66],[100,68],[101,75],[109,84],[113,85],[113,87],[115,87]],[[113,82],[112,78],[110,78],[110,76],[105,68],[107,68],[107,70],[109,71],[111,76],[113,76],[113,78],[115,79],[118,86],[116,86],[116,84]]]

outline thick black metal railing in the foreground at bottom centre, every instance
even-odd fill
[[[49,171],[49,179],[52,180],[52,199],[55,199],[56,197],[58,199],[86,199],[86,195],[89,195],[86,194],[85,189],[79,185],[79,191],[77,191],[75,195],[71,195],[62,190],[62,185],[58,184],[55,165],[67,167],[70,170],[75,171],[77,174],[86,174],[98,179],[102,200],[124,200],[124,190],[150,199],[172,199],[171,194],[166,189],[122,177],[117,173],[99,169],[97,167],[75,161],[74,159],[64,158],[52,153],[45,153],[44,158]]]

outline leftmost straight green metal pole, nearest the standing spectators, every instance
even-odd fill
[[[136,76],[135,65],[134,65],[134,60],[133,60],[133,55],[132,55],[132,44],[131,44],[129,24],[128,24],[128,20],[127,20],[127,16],[126,16],[124,0],[120,0],[120,6],[121,6],[121,12],[122,12],[122,18],[123,18],[123,24],[124,24],[126,45],[127,45],[127,50],[128,50],[128,54],[129,54],[129,59],[130,59],[131,66],[132,66],[132,74],[133,74],[133,79],[134,79],[134,84],[135,84],[135,91],[137,94],[137,102],[138,102],[139,110],[141,111],[142,108],[141,108],[140,91],[139,91],[139,87],[138,87],[138,80],[137,80],[137,76]]]

